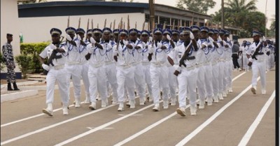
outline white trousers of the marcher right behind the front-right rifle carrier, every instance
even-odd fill
[[[200,66],[197,73],[197,92],[201,99],[206,98],[206,89],[205,89],[205,68]]]

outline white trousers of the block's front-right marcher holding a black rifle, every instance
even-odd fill
[[[196,105],[197,71],[198,68],[191,71],[187,71],[186,68],[183,68],[177,77],[179,84],[179,108],[186,108],[187,94],[190,100],[190,105]]]

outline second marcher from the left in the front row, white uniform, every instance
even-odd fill
[[[101,29],[92,29],[93,38],[90,38],[90,44],[87,45],[87,59],[90,68],[88,69],[88,79],[90,80],[90,110],[96,110],[97,94],[102,98],[102,108],[108,105],[107,87],[106,87],[106,68],[105,55],[106,48],[100,45],[102,35]]]

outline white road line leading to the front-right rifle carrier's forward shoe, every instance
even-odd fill
[[[244,72],[244,73],[246,73],[246,72]],[[232,82],[233,82],[234,80],[237,80],[237,78],[241,77],[241,75],[244,75],[244,73],[241,73],[240,75],[237,75],[235,78],[232,79]],[[197,100],[196,102],[198,102],[198,101],[200,101],[200,100]],[[186,106],[186,108],[189,108],[189,107],[190,107],[190,105],[188,104],[188,105]],[[124,145],[125,143],[130,142],[130,141],[133,140],[134,138],[137,138],[138,136],[141,136],[141,134],[146,133],[147,131],[153,129],[155,126],[158,126],[158,125],[161,124],[162,122],[165,122],[167,119],[173,117],[174,115],[177,115],[177,112],[173,112],[171,115],[169,115],[169,116],[167,116],[167,117],[165,117],[165,118],[163,118],[163,119],[160,119],[160,121],[155,122],[154,124],[151,124],[151,125],[148,126],[146,129],[143,129],[143,130],[139,131],[138,133],[135,133],[134,135],[130,136],[129,138],[126,138],[126,139],[123,140],[123,141],[120,141],[120,143],[117,143],[117,144],[114,145],[114,146]]]

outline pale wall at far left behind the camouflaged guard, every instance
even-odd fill
[[[11,45],[13,45],[14,57],[20,54],[19,25],[17,0],[1,0],[1,51],[2,46],[7,42],[6,34],[13,34]],[[18,67],[15,68],[15,71],[20,72]]]

